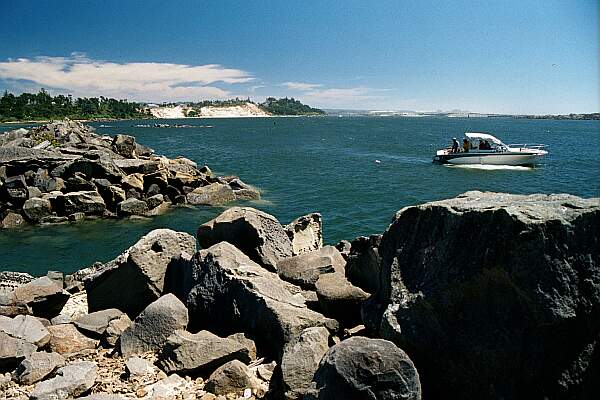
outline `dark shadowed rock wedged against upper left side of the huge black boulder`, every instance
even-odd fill
[[[368,293],[379,290],[381,235],[358,237],[352,241],[346,264],[346,278]]]

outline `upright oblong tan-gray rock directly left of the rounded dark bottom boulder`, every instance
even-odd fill
[[[302,399],[315,388],[312,379],[329,350],[329,332],[323,327],[307,328],[288,343],[281,358],[281,377],[286,399]]]

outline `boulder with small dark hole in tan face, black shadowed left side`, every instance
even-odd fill
[[[171,258],[193,254],[193,236],[170,229],[156,229],[141,238],[84,283],[90,311],[116,308],[135,318],[163,294]]]

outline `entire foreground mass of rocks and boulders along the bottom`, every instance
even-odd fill
[[[598,226],[600,199],[469,192],[323,247],[318,214],[230,209],[200,250],[159,229],[72,275],[2,273],[0,393],[593,399]]]

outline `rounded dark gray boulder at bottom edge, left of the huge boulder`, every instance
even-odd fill
[[[382,339],[356,336],[331,347],[314,382],[318,394],[309,398],[319,400],[421,399],[413,362],[394,343]]]

